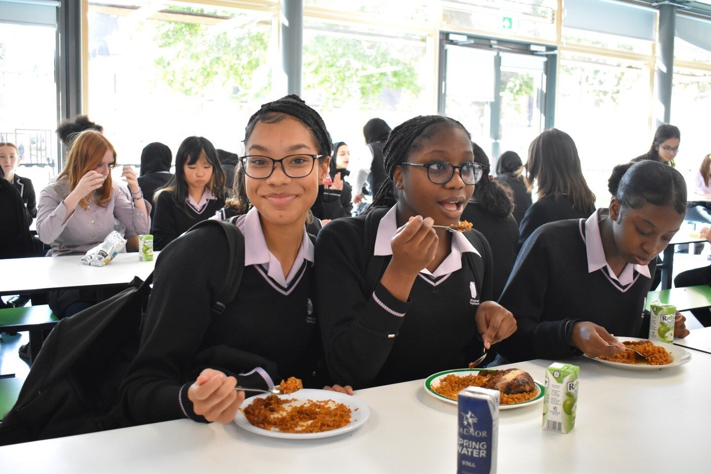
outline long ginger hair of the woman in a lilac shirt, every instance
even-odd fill
[[[111,163],[111,167],[116,166],[116,150],[111,142],[99,131],[96,130],[85,130],[77,135],[76,139],[72,142],[69,151],[67,152],[67,162],[64,164],[64,169],[57,178],[57,181],[62,178],[69,179],[69,190],[73,191],[81,178],[88,173],[93,171],[101,164],[104,155],[107,150],[111,150],[114,155],[114,161]],[[111,173],[104,181],[101,188],[94,191],[97,195],[97,204],[104,206],[109,200],[111,200]],[[89,203],[87,198],[82,198],[79,201],[79,205],[82,209],[88,209]]]

